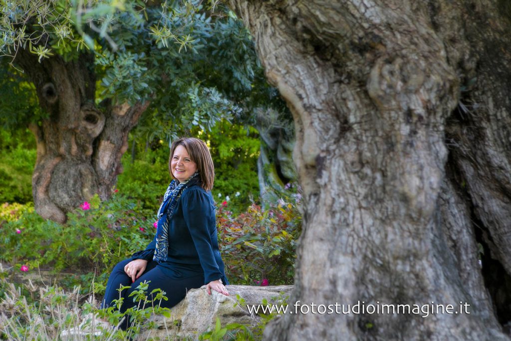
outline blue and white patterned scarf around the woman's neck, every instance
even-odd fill
[[[169,253],[169,222],[174,215],[179,198],[185,189],[199,183],[200,176],[197,171],[182,183],[178,183],[175,179],[171,181],[157,214],[158,227],[156,228],[154,261],[160,262],[167,259],[167,255]]]

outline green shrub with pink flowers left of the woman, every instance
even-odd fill
[[[149,212],[118,194],[102,203],[97,196],[82,203],[63,225],[25,212],[19,219],[0,221],[0,248],[9,250],[0,254],[0,262],[24,272],[40,266],[101,274],[144,249],[154,236],[146,232],[153,230],[145,217]]]

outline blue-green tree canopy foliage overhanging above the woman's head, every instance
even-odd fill
[[[265,80],[248,30],[216,1],[28,0],[3,2],[0,10],[0,55],[6,56],[0,94],[9,103],[0,108],[3,124],[45,119],[33,85],[7,65],[21,47],[40,60],[94,53],[84,72],[98,79],[96,102],[150,100],[139,124],[164,141],[221,119],[253,124],[256,107],[285,107]]]

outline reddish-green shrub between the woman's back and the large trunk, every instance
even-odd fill
[[[301,216],[287,198],[263,211],[252,204],[234,217],[222,204],[217,225],[222,258],[231,284],[292,284]]]

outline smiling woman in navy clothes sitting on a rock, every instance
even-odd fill
[[[144,251],[119,262],[110,274],[102,308],[119,299],[120,285],[130,286],[121,292],[121,311],[135,305],[129,294],[143,281],[148,293],[155,288],[166,292],[162,307],[179,303],[187,290],[206,285],[228,295],[224,264],[220,256],[211,189],[215,177],[213,160],[206,144],[194,138],[182,138],[171,146],[169,171],[172,182],[158,210],[154,240]],[[122,329],[127,329],[125,319]]]

